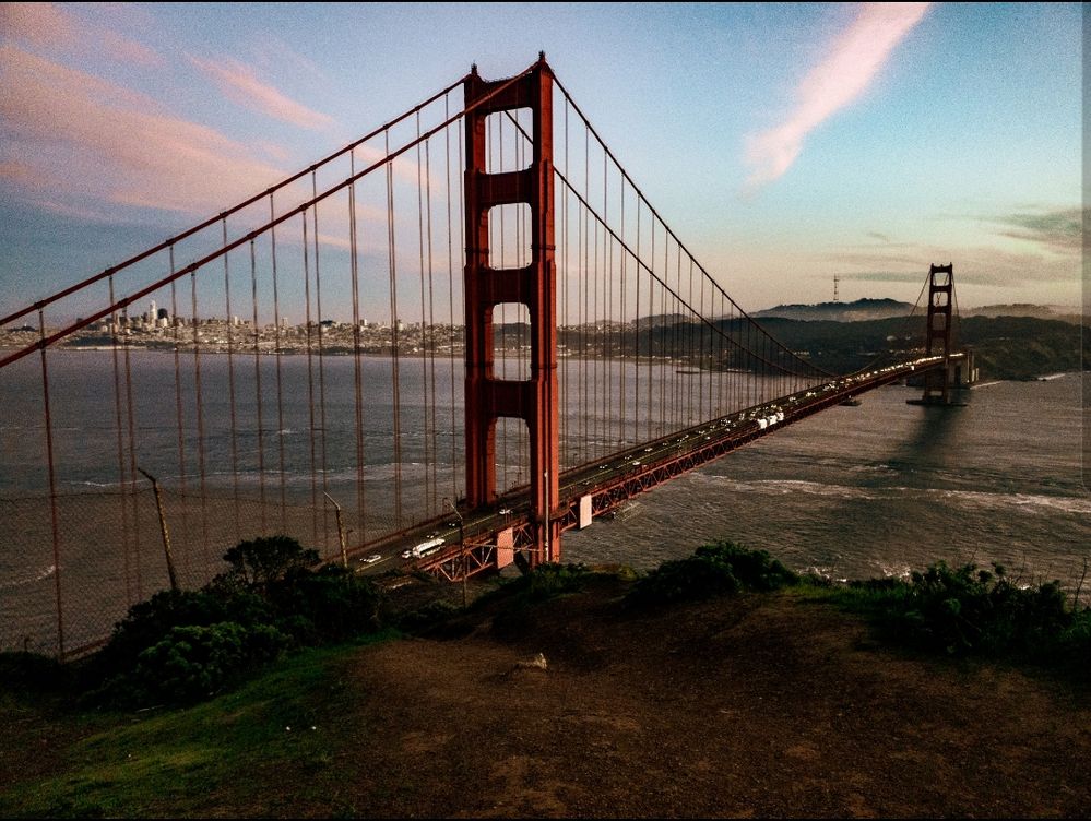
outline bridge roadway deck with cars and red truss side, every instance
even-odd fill
[[[950,358],[960,356],[956,354]],[[580,504],[584,497],[591,498],[591,516],[602,516],[639,493],[774,433],[786,425],[867,391],[942,366],[941,356],[921,357],[840,377],[619,451],[601,462],[571,468],[561,474],[560,499],[554,505],[554,520],[561,523],[562,532],[579,527]],[[379,574],[396,568],[424,570],[455,581],[463,572],[474,575],[495,567],[498,534],[509,528],[513,549],[525,550],[534,545],[534,525],[530,520],[525,486],[498,497],[488,508],[465,511],[462,519],[461,540],[458,516],[448,513],[359,545],[349,551],[349,557],[359,572],[366,574]],[[413,546],[435,539],[442,539],[442,544],[435,546],[429,555],[405,557],[405,551]],[[366,556],[372,557],[372,561],[367,561]],[[380,558],[375,559],[376,556]]]

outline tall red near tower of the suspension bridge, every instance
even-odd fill
[[[471,508],[496,503],[496,421],[501,416],[523,419],[530,433],[531,519],[536,531],[527,560],[534,567],[560,560],[560,525],[553,515],[560,493],[553,73],[544,55],[513,83],[486,82],[475,67],[464,91],[466,503]],[[489,172],[488,118],[520,108],[532,115],[532,162],[520,170]],[[526,204],[531,212],[531,262],[520,269],[493,267],[490,212],[517,203]],[[503,302],[521,302],[530,313],[530,379],[525,381],[494,374],[493,309]]]

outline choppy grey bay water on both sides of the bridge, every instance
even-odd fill
[[[139,510],[133,503],[130,512],[128,502],[120,502],[123,497],[117,495],[119,475],[131,471],[130,448],[135,464],[158,475],[176,492],[186,489],[179,488],[178,479],[181,451],[191,493],[197,454],[203,448],[207,492],[224,497],[223,508],[211,514],[214,525],[217,521],[223,525],[223,533],[210,538],[194,528],[199,516],[210,520],[203,502],[176,496],[167,513],[179,561],[185,564],[181,570],[183,575],[192,570],[189,578],[194,583],[211,567],[209,562],[217,560],[225,544],[234,544],[248,524],[266,515],[263,507],[239,513],[229,501],[233,491],[253,498],[260,486],[272,504],[283,488],[288,503],[299,505],[290,514],[295,516],[289,522],[296,527],[293,535],[298,533],[306,544],[321,524],[322,535],[316,538],[324,544],[319,546],[327,552],[335,550],[330,511],[323,512],[319,523],[309,507],[316,498],[310,468],[322,460],[323,484],[318,490],[328,489],[342,501],[349,526],[364,526],[353,519],[352,510],[360,475],[355,466],[357,445],[367,463],[363,474],[368,515],[386,517],[384,526],[393,526],[389,359],[367,358],[361,364],[369,388],[359,442],[353,432],[352,358],[329,357],[323,362],[324,420],[312,416],[306,401],[308,393],[320,390],[317,365],[311,362],[309,368],[306,357],[285,357],[281,376],[286,401],[277,403],[274,360],[263,359],[259,450],[253,432],[257,379],[252,359],[238,357],[235,362],[234,405],[246,421],[234,441],[226,379],[229,362],[223,356],[202,361],[201,440],[195,427],[192,360],[180,362],[181,381],[190,388],[180,398],[183,425],[179,438],[174,357],[134,353],[130,442],[128,419],[118,425],[115,384],[124,382],[115,382],[111,354],[60,353],[49,360],[58,492],[66,495],[59,522],[62,549],[54,556],[49,505],[34,501],[48,492],[40,373],[31,358],[19,365],[0,373],[0,516],[7,520],[0,522],[2,646],[25,635],[50,646],[52,640],[41,636],[56,631],[58,584],[66,634],[82,633],[87,640],[108,632],[131,600],[165,584],[154,501],[145,490]],[[561,364],[571,378],[569,384],[578,384],[579,374],[592,369],[583,365]],[[676,385],[671,380],[677,381],[673,368],[652,367],[638,373],[628,364],[622,380],[620,367],[609,366],[614,370],[609,401],[580,395],[576,388],[564,396],[562,464],[579,464],[596,459],[600,451],[635,444],[649,430],[657,436],[661,423],[674,425],[666,432],[683,427],[678,419],[684,424],[699,420],[698,410],[688,406],[680,412],[675,407],[674,419],[660,418],[672,413],[671,391]],[[400,473],[403,505],[412,521],[423,517],[422,505],[430,504],[438,514],[442,496],[461,495],[462,371],[459,364],[443,361],[432,380],[419,359],[404,360],[401,368]],[[593,368],[608,370],[605,364]],[[778,386],[766,389],[772,391],[770,396],[779,395]],[[121,391],[124,396],[128,386]],[[601,415],[615,408],[622,394],[628,427],[592,418],[595,410]],[[426,418],[427,395],[438,396],[442,406]],[[834,407],[788,426],[643,495],[627,517],[597,521],[582,532],[565,534],[565,558],[648,569],[688,556],[703,542],[728,538],[769,550],[793,569],[837,579],[900,575],[944,559],[983,566],[997,561],[1028,581],[1056,578],[1075,583],[1084,559],[1091,559],[1091,497],[1081,477],[1080,378],[1065,374],[1037,382],[982,384],[972,392],[969,406],[958,408],[905,404],[917,395],[913,389],[888,386],[864,395],[858,407]],[[127,408],[128,400],[122,404]],[[324,451],[319,453],[319,440],[311,431],[323,421],[320,444]],[[509,460],[498,444],[498,460],[505,463],[498,466],[501,484],[525,480],[517,459],[518,440],[511,441]],[[119,460],[119,449],[123,460]],[[123,469],[119,461],[126,463]],[[436,464],[430,478],[424,466],[429,461]],[[87,493],[97,491],[102,499],[93,504]],[[317,498],[321,503],[320,492]],[[127,516],[130,522],[139,517],[143,542],[129,544],[119,536]],[[90,621],[88,612],[98,621]]]

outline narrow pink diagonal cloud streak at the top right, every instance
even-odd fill
[[[795,108],[783,122],[747,139],[754,167],[747,189],[781,177],[799,155],[807,134],[857,99],[876,79],[894,47],[921,22],[930,3],[865,3],[830,55],[796,90]]]

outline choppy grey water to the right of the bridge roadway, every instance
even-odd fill
[[[839,579],[939,559],[1078,579],[1091,560],[1079,377],[983,384],[957,408],[905,404],[917,394],[879,389],[761,439],[567,535],[567,557],[649,567],[730,538]]]

